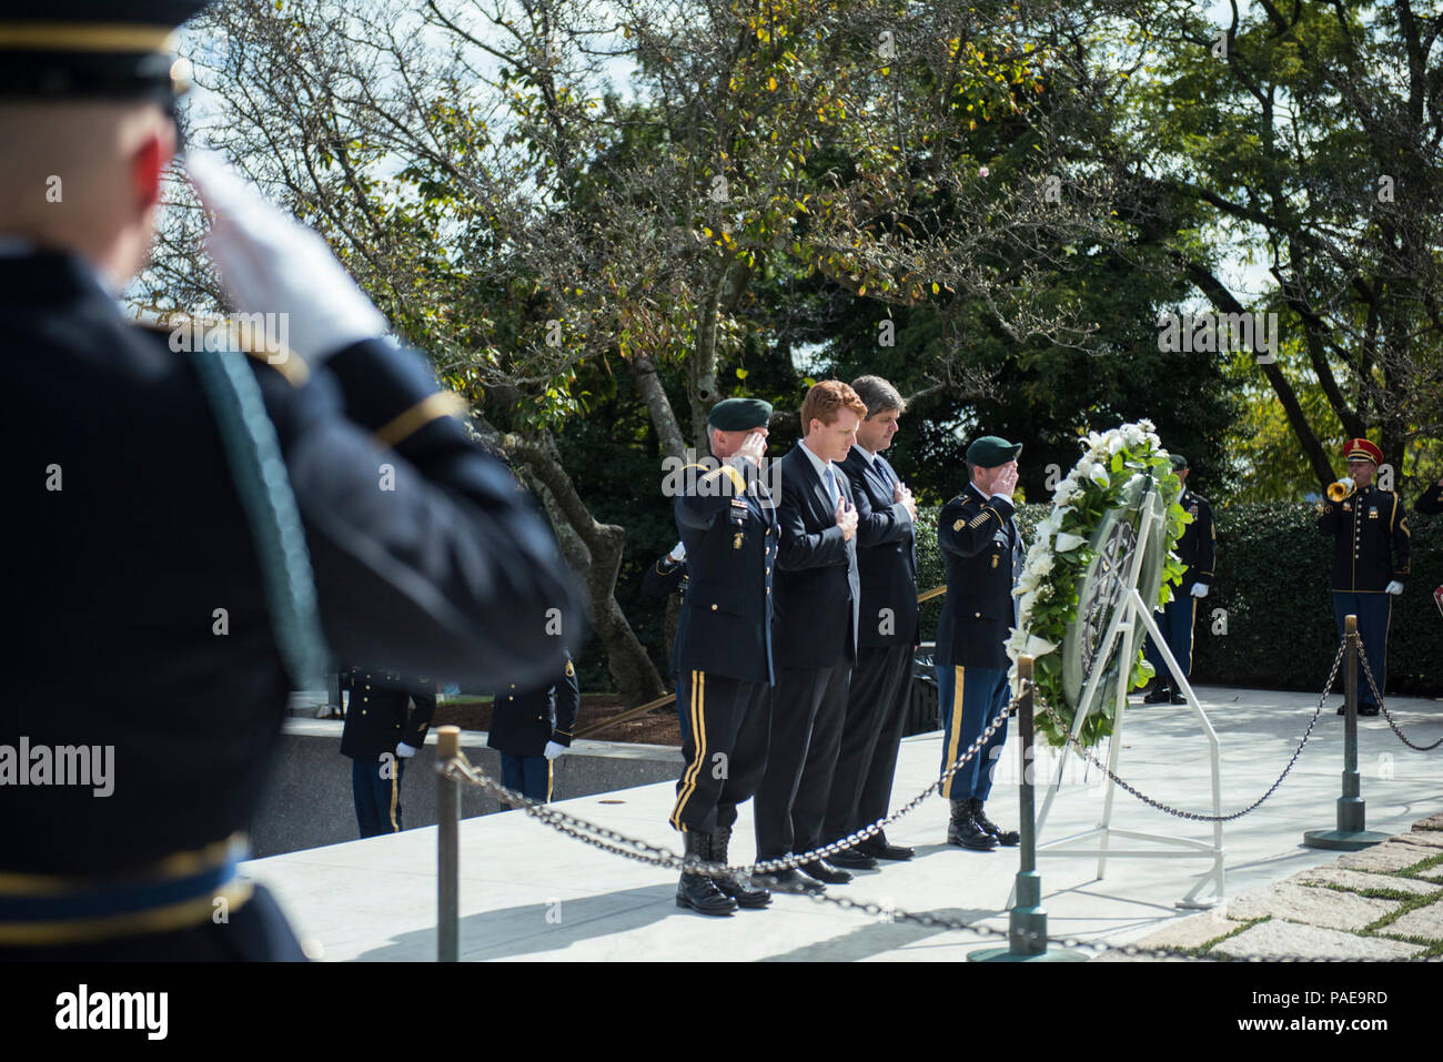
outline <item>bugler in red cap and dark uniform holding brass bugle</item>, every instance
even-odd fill
[[[1317,530],[1333,537],[1330,584],[1338,638],[1343,636],[1343,619],[1358,616],[1358,636],[1381,694],[1388,672],[1392,599],[1403,593],[1403,580],[1408,577],[1408,521],[1403,499],[1372,485],[1382,450],[1367,439],[1349,439],[1343,456],[1348,478],[1329,486],[1326,499],[1317,502]],[[1338,714],[1343,710],[1339,707]],[[1361,675],[1358,714],[1378,714],[1378,698]]]

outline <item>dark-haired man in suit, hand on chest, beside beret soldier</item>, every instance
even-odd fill
[[[906,723],[908,677],[918,644],[916,547],[912,524],[916,502],[882,450],[892,446],[906,401],[880,377],[851,381],[867,404],[841,470],[857,502],[857,571],[861,623],[857,665],[851,671],[847,716],[841,726],[837,773],[827,801],[827,841],[841,840],[886,818],[892,778]],[[889,844],[886,834],[840,851],[835,866],[870,870],[876,860],[905,860],[912,848]]]

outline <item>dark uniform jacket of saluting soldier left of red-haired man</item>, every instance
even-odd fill
[[[677,620],[677,670],[773,681],[772,569],[776,506],[750,462],[706,472],[677,498],[687,547],[687,596]]]

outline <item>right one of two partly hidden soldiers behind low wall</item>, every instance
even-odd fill
[[[582,706],[576,665],[566,667],[553,683],[521,687],[512,683],[491,701],[488,747],[501,753],[501,784],[534,801],[550,801],[551,763],[571,747],[571,727]]]

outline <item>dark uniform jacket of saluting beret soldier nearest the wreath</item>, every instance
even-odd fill
[[[1012,587],[1022,571],[1022,534],[1006,498],[983,498],[967,485],[942,506],[937,544],[947,569],[947,597],[937,625],[941,667],[1006,668],[1004,644],[1017,622]]]

